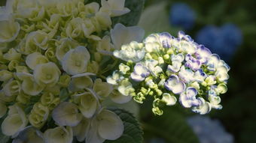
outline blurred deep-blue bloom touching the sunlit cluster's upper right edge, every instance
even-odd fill
[[[233,24],[225,24],[220,28],[207,25],[197,33],[196,40],[228,61],[242,43],[242,32]]]

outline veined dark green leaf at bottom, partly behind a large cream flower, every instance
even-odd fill
[[[114,141],[105,141],[104,143],[142,143],[142,129],[139,126],[136,118],[130,113],[123,109],[111,108],[112,112],[115,112],[123,121],[124,131],[123,135]]]

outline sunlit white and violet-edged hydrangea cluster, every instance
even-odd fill
[[[123,45],[114,56],[126,64],[121,63],[107,82],[138,103],[154,97],[155,115],[177,99],[201,115],[222,108],[219,95],[227,91],[230,67],[181,31],[177,38],[166,32],[151,34],[143,43]]]

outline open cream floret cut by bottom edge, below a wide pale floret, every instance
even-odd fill
[[[72,127],[56,127],[54,129],[48,129],[44,132],[44,139],[46,143],[72,143]]]

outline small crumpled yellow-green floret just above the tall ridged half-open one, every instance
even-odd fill
[[[50,110],[52,110],[59,105],[60,99],[50,92],[45,92],[41,95],[40,101],[43,106],[47,106]]]

